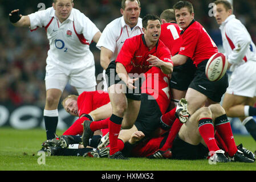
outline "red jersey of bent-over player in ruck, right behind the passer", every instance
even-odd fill
[[[141,85],[141,93],[155,98],[161,113],[164,114],[170,104],[170,77],[162,73],[158,67],[152,67],[145,73],[145,81]]]

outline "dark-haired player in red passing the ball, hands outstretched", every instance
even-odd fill
[[[106,119],[109,121],[109,158],[111,159],[124,159],[117,147],[117,138],[121,127],[130,129],[139,113],[141,102],[140,86],[137,84],[139,75],[147,72],[151,67],[159,67],[165,74],[172,73],[170,51],[159,40],[160,22],[155,15],[144,16],[144,34],[125,40],[115,61],[116,64],[110,63],[106,70],[108,93],[113,110],[111,117]],[[133,74],[131,76],[128,73]],[[119,77],[121,81],[116,80],[115,77]],[[84,122],[82,137],[84,146],[87,146],[88,140],[93,134],[90,123]]]

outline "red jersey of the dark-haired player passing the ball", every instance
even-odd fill
[[[140,75],[140,73],[145,73],[149,70],[148,55],[153,55],[162,61],[172,63],[170,51],[164,43],[159,40],[156,46],[149,50],[145,43],[144,34],[126,39],[116,58],[116,62],[123,64],[127,73],[138,73]]]

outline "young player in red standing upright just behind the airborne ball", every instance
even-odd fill
[[[172,57],[173,64],[182,65],[188,59],[192,59],[197,68],[185,96],[188,101],[188,113],[193,114],[201,106],[219,103],[226,92],[228,80],[227,75],[216,82],[209,81],[205,76],[206,63],[214,53],[218,52],[218,48],[205,28],[194,20],[193,5],[188,1],[179,1],[173,6],[173,10],[178,26],[182,28],[180,32],[182,44],[178,54]],[[182,125],[176,123],[177,130],[170,134],[167,139],[169,146],[165,143],[164,149],[172,147],[173,139]],[[211,125],[202,127],[211,127]]]

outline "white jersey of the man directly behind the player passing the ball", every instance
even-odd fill
[[[131,29],[131,27],[125,23],[124,16],[121,16],[107,24],[96,47],[99,49],[105,47],[112,51],[113,55],[111,60],[115,60],[125,40],[139,34],[143,34],[142,19],[139,18],[136,26]]]

